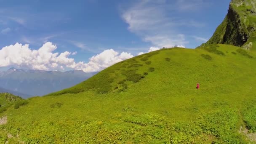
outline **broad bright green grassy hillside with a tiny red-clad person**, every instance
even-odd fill
[[[253,56],[248,58],[235,46],[219,46],[225,56],[181,48],[147,53],[73,88],[28,99],[26,106],[0,114],[8,116],[7,125],[0,125],[5,129],[0,141],[245,143],[240,126],[256,132],[256,53],[248,52]],[[141,61],[145,57],[151,64]],[[148,75],[139,80],[128,75],[129,69]],[[123,79],[139,82],[120,83]]]

